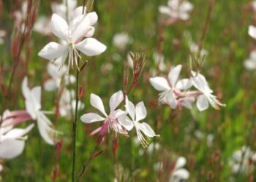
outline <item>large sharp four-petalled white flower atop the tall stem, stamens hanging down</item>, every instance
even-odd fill
[[[69,25],[66,20],[57,14],[53,14],[51,18],[51,28],[53,33],[61,39],[64,44],[56,42],[48,43],[38,55],[48,60],[56,60],[64,56],[66,60],[68,55],[68,68],[74,64],[78,67],[78,50],[88,56],[99,55],[106,50],[104,44],[90,37],[94,33],[94,25],[97,23],[98,16],[96,12],[78,15],[71,20]],[[82,40],[83,39],[83,40]]]

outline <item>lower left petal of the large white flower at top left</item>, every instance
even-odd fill
[[[60,58],[61,55],[64,55],[66,51],[67,46],[51,41],[44,48],[42,48],[42,50],[40,50],[38,55],[41,58],[45,58],[47,60],[55,60],[57,58]]]

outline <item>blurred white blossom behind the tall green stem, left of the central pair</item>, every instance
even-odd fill
[[[78,111],[84,108],[84,104],[78,101]],[[59,100],[59,113],[61,116],[70,116],[75,111],[75,90],[67,90],[61,94]]]

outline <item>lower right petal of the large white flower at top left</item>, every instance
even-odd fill
[[[87,38],[75,44],[75,47],[88,56],[100,55],[107,47],[94,38]]]

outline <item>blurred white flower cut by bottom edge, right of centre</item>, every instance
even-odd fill
[[[187,159],[185,157],[178,157],[169,182],[187,181],[189,179],[189,171],[184,168],[186,163]]]

